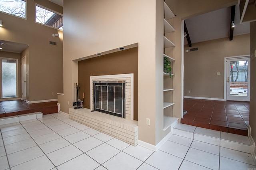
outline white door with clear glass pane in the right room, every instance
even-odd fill
[[[250,57],[226,59],[226,99],[250,101]]]

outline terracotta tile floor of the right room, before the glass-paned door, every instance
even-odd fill
[[[181,123],[222,132],[248,135],[249,102],[184,99],[187,113]]]

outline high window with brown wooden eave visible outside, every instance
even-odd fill
[[[63,16],[36,6],[36,22],[63,30]]]

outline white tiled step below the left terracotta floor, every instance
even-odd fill
[[[10,116],[10,117],[2,117],[0,118],[0,125],[28,121],[31,119],[38,119],[42,117],[43,117],[42,112],[28,113],[28,114],[16,115],[16,116]]]

